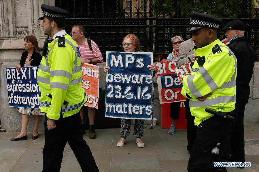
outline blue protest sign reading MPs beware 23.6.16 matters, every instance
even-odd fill
[[[153,53],[106,52],[105,117],[151,119]]]

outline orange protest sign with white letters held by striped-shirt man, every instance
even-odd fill
[[[82,88],[87,96],[87,102],[84,105],[98,109],[99,66],[84,63],[82,65],[82,78]]]

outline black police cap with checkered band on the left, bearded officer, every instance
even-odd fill
[[[68,12],[62,8],[42,4],[41,5],[42,16],[38,20],[43,20],[45,16],[55,18],[66,18]]]

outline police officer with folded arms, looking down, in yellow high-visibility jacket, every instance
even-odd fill
[[[190,99],[190,111],[195,116],[198,133],[188,162],[188,171],[226,171],[215,168],[213,162],[227,162],[233,121],[214,116],[205,109],[235,116],[237,60],[230,49],[217,38],[222,21],[206,13],[190,14],[192,41],[196,56],[191,75],[183,78],[182,94]],[[220,143],[219,153],[214,147]],[[218,153],[218,154],[217,154]]]

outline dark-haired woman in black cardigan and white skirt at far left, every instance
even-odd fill
[[[33,35],[26,36],[24,38],[24,48],[26,51],[22,53],[22,57],[20,63],[16,65],[16,69],[20,72],[21,67],[26,66],[38,66],[42,59],[39,53],[39,46],[37,38]],[[38,109],[29,109],[29,108],[17,108],[19,113],[22,114],[22,130],[18,136],[15,138],[11,138],[11,141],[18,141],[18,140],[27,140],[28,136],[26,133],[27,125],[29,123],[29,116],[33,115],[34,119],[34,128],[33,128],[33,135],[32,139],[35,140],[39,137],[38,133],[38,125],[39,125],[39,115],[44,115]]]

